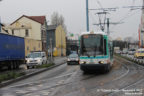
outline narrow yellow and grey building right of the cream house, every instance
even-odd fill
[[[47,50],[51,49],[50,46],[52,46],[52,52],[54,56],[66,56],[66,33],[64,32],[64,29],[61,25],[48,26]]]

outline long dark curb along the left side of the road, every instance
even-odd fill
[[[18,78],[16,78],[16,79],[12,79],[12,80],[8,80],[8,81],[5,81],[5,82],[2,82],[2,83],[0,83],[0,88],[5,87],[5,86],[7,86],[7,85],[10,85],[10,84],[12,84],[12,83],[15,83],[15,82],[17,82],[17,81],[20,81],[20,80],[29,78],[29,77],[31,77],[31,76],[37,75],[37,74],[39,74],[39,73],[45,72],[45,71],[47,71],[47,70],[53,69],[53,68],[55,68],[55,67],[57,67],[57,66],[60,66],[60,65],[62,65],[62,64],[64,64],[64,63],[66,63],[65,60],[64,60],[64,62],[62,62],[62,63],[60,63],[60,64],[56,64],[56,65],[50,66],[50,67],[48,67],[48,68],[45,68],[45,69],[41,69],[41,70],[39,70],[39,71],[32,72],[32,73],[30,73],[30,74],[23,75],[23,76],[18,77]]]

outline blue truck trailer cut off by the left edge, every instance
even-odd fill
[[[0,33],[0,69],[17,69],[25,63],[24,38]]]

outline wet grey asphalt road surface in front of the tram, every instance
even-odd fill
[[[144,96],[144,67],[115,57],[109,73],[84,74],[63,64],[1,88],[0,96]]]

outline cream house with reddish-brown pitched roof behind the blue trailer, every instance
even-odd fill
[[[5,30],[10,35],[25,38],[25,54],[30,51],[46,51],[46,18],[45,16],[23,15]]]

